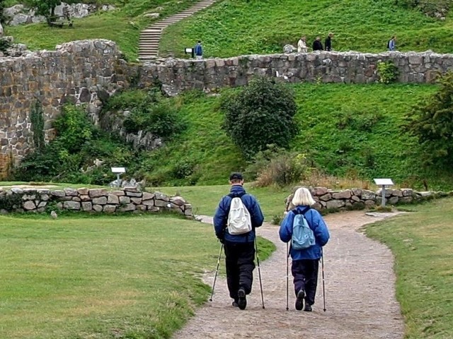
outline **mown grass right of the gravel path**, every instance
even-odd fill
[[[406,339],[453,338],[453,199],[366,227],[395,257]]]

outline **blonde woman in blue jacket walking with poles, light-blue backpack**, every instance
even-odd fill
[[[280,239],[289,242],[292,238],[292,222],[294,215],[303,213],[309,227],[314,233],[316,243],[308,249],[292,249],[289,254],[292,258],[291,273],[294,277],[294,292],[296,293],[295,307],[298,311],[311,311],[318,285],[319,259],[323,255],[322,247],[329,239],[328,228],[321,214],[313,208],[315,201],[309,189],[301,187],[297,189],[292,198],[292,204],[296,206],[289,211],[280,225]],[[305,302],[305,307],[304,307]]]

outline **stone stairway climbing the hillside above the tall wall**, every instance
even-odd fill
[[[168,18],[149,25],[147,28],[142,30],[139,38],[139,60],[145,61],[155,59],[157,57],[157,52],[159,51],[159,40],[161,40],[161,34],[164,28],[168,27],[172,23],[177,23],[179,20],[183,20],[183,18],[188,18],[188,16],[193,15],[193,13],[196,13],[197,11],[201,11],[208,6],[211,6],[215,1],[216,0],[198,1],[185,11],[173,14],[173,16],[168,16]]]

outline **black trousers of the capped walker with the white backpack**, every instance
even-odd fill
[[[238,290],[243,288],[250,294],[253,283],[255,247],[253,242],[225,242],[226,283],[229,296],[238,299]]]

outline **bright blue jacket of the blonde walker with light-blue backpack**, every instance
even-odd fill
[[[297,206],[297,212],[302,212],[306,206]],[[292,260],[302,260],[302,259],[319,259],[323,255],[322,246],[327,244],[328,238],[328,229],[326,222],[324,222],[321,214],[314,208],[310,208],[305,213],[306,221],[309,223],[311,230],[314,233],[316,239],[316,244],[310,246],[308,249],[292,249],[290,250]],[[280,225],[280,239],[282,242],[289,242],[292,238],[292,222],[294,220],[294,213],[289,211],[285,219]]]

